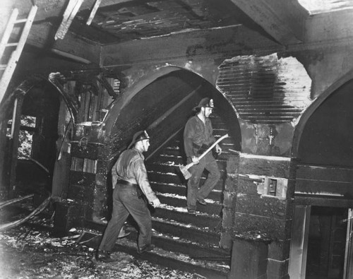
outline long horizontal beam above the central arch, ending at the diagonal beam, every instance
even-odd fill
[[[101,61],[103,67],[124,67],[210,57],[226,59],[254,52],[270,54],[283,49],[281,44],[268,36],[262,36],[244,25],[233,25],[103,45]]]

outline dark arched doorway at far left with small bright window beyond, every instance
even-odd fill
[[[39,76],[23,81],[1,104],[0,168],[8,197],[52,191],[62,105],[58,90]]]

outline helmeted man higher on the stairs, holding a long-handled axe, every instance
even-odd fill
[[[210,191],[215,187],[220,179],[220,170],[217,162],[213,157],[212,152],[209,152],[201,160],[198,160],[205,150],[215,143],[213,136],[213,127],[208,118],[213,111],[213,100],[203,98],[197,107],[193,108],[196,113],[187,122],[184,129],[184,149],[188,163],[193,162],[190,167],[191,178],[188,182],[187,208],[189,213],[195,214],[196,201],[203,206],[206,205],[205,198],[210,194]],[[222,148],[217,144],[216,152],[222,153]],[[208,170],[208,178],[201,188],[199,188],[200,179],[203,170]]]

